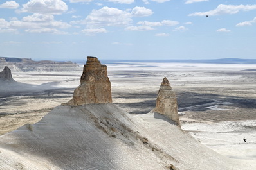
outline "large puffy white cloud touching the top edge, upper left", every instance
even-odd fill
[[[30,0],[23,4],[17,12],[44,13],[60,15],[68,10],[68,6],[62,0]]]

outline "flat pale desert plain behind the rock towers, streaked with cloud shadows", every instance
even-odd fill
[[[130,114],[145,114],[154,108],[166,76],[178,98],[183,130],[223,155],[255,162],[256,65],[119,63],[107,67],[113,103]],[[35,123],[55,106],[69,101],[81,74],[82,69],[13,72],[14,80],[35,88],[6,92],[1,87],[0,134]]]

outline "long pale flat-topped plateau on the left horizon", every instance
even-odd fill
[[[81,67],[73,62],[34,61],[30,58],[0,57],[0,67],[4,67],[5,65],[14,72],[81,70]]]

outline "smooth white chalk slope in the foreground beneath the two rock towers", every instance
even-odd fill
[[[163,115],[132,116],[112,103],[58,106],[39,123],[0,137],[0,169],[141,170],[171,164],[182,170],[246,169]]]

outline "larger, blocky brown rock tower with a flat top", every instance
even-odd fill
[[[88,103],[112,103],[111,82],[107,77],[107,66],[100,64],[96,57],[87,57],[80,86],[68,105],[84,105]]]

